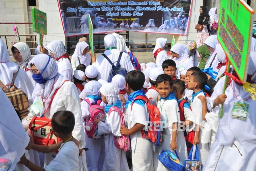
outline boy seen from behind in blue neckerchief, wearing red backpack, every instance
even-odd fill
[[[145,96],[142,86],[145,76],[141,71],[130,71],[126,77],[126,91],[130,93],[126,101],[126,115],[128,128],[120,129],[122,135],[130,135],[133,170],[154,170],[152,143],[142,138],[142,129],[149,121],[147,104],[142,100],[134,101],[137,96]]]

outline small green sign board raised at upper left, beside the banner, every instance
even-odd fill
[[[39,34],[47,34],[46,13],[32,8],[33,31]]]

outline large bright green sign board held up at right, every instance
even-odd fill
[[[254,10],[243,0],[221,0],[218,41],[242,82],[246,82]]]

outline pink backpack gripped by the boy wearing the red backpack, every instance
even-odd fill
[[[109,115],[111,112],[116,111],[118,112],[120,119],[121,119],[121,126],[126,126],[124,114],[123,112],[116,106],[113,106],[109,109]],[[116,137],[113,135],[113,140],[116,148],[121,149],[122,151],[130,150],[130,137],[127,135],[122,135],[121,137]]]

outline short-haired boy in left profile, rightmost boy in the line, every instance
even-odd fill
[[[207,76],[201,71],[196,71],[189,77],[188,89],[193,90],[190,106],[196,117],[196,135],[194,138],[194,144],[198,144],[199,156],[203,164],[209,156],[209,142],[206,142],[208,133],[200,130],[200,127],[204,127],[204,121],[202,112],[203,104],[199,96],[205,96],[203,89],[206,83]]]

